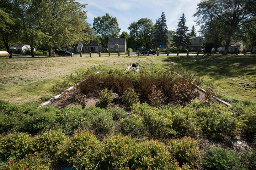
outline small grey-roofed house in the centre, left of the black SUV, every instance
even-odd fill
[[[108,39],[109,52],[126,52],[126,38],[110,38]]]

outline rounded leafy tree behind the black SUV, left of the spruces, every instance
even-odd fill
[[[130,36],[135,40],[137,45],[151,48],[153,23],[149,18],[141,18],[137,22],[133,22],[128,27]]]

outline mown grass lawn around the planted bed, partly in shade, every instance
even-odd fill
[[[185,67],[220,84],[222,98],[256,102],[256,55],[0,58],[0,98],[14,104],[39,104],[71,73],[101,65],[127,69],[132,63],[151,69]]]

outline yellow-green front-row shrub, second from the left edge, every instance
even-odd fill
[[[32,150],[50,158],[57,157],[58,147],[65,143],[62,130],[46,130],[32,140]]]

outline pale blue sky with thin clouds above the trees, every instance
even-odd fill
[[[153,24],[156,19],[165,12],[166,24],[168,30],[175,30],[178,19],[185,14],[188,29],[194,25],[196,31],[199,26],[196,26],[194,20],[196,17],[192,15],[196,12],[197,4],[200,0],[77,0],[86,5],[87,22],[92,25],[94,17],[103,16],[109,13],[112,17],[117,18],[121,32],[129,33],[129,24],[138,21],[140,18],[150,18]],[[197,35],[199,35],[197,33]]]

